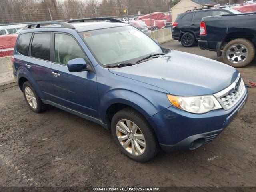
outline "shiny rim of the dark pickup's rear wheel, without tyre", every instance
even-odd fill
[[[243,44],[234,44],[226,52],[228,60],[234,64],[242,63],[248,57],[248,48]]]

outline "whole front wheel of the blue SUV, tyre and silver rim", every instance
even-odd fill
[[[132,160],[146,162],[158,152],[158,142],[147,120],[138,111],[124,108],[111,121],[116,145]]]

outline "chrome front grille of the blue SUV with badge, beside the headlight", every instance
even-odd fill
[[[239,74],[238,78],[228,88],[214,94],[225,110],[232,108],[244,95],[246,88]]]

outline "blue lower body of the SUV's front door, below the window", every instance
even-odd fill
[[[69,72],[68,67],[52,63],[54,102],[98,118],[98,89],[96,74],[81,71]]]

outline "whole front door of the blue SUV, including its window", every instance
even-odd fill
[[[81,46],[73,36],[55,33],[53,55],[55,62],[52,63],[52,81],[55,96],[57,96],[55,102],[99,118],[96,74],[86,71],[68,71],[67,64],[71,59],[83,58],[86,64],[91,65]]]

